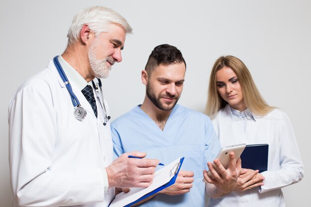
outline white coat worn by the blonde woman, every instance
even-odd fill
[[[264,186],[212,199],[211,207],[285,207],[281,188],[299,182],[304,176],[304,165],[287,115],[274,109],[264,117],[253,117],[255,121],[247,121],[244,133],[242,121],[233,120],[227,104],[218,112],[213,125],[222,146],[269,144],[268,171],[261,173],[265,177]]]

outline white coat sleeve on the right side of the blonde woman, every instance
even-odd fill
[[[288,116],[283,112],[280,120],[280,167],[279,170],[262,172],[265,177],[264,185],[259,188],[260,193],[279,189],[299,182],[304,177],[304,165],[299,152],[293,127]]]

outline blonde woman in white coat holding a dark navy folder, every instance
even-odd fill
[[[213,119],[222,146],[269,144],[268,170],[258,173],[257,169],[242,169],[235,189],[221,198],[212,198],[210,206],[285,207],[281,188],[304,176],[294,131],[288,116],[263,100],[238,58],[220,57],[214,64],[206,114]],[[206,173],[204,177],[208,179]],[[206,184],[209,195],[212,185]]]

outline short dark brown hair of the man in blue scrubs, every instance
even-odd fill
[[[151,52],[145,70],[150,75],[160,64],[171,65],[176,63],[184,63],[186,67],[186,62],[180,50],[174,46],[162,44],[156,46]]]

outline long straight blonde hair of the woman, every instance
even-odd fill
[[[220,96],[217,90],[216,73],[224,67],[231,68],[236,74],[242,89],[243,99],[246,107],[255,115],[264,116],[275,107],[269,106],[261,97],[249,70],[241,60],[234,56],[222,56],[214,64],[211,71],[208,89],[208,100],[205,113],[214,118],[216,113],[227,105],[227,102]]]

